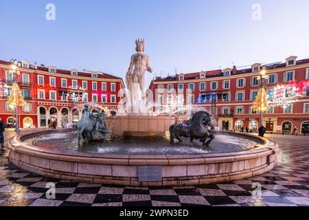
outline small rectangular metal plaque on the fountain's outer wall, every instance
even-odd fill
[[[162,181],[162,166],[139,166],[139,181]]]

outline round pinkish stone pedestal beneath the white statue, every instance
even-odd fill
[[[145,137],[163,135],[175,123],[174,116],[115,115],[106,118],[113,135]]]

